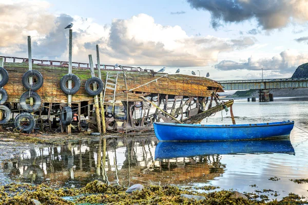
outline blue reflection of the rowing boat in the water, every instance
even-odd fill
[[[155,149],[155,159],[245,153],[295,154],[290,139],[241,141],[160,141]]]

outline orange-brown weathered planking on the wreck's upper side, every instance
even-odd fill
[[[26,89],[22,86],[22,76],[28,70],[26,63],[5,63],[5,69],[8,71],[10,80],[4,88],[8,92],[8,102],[18,103],[20,96],[26,92]],[[36,91],[42,98],[42,103],[67,103],[67,95],[62,92],[60,88],[60,79],[62,76],[67,74],[67,67],[53,67],[46,65],[33,64],[32,68],[38,70],[44,76],[44,85],[38,91]],[[117,72],[123,72],[121,70],[106,70],[102,69],[102,79],[106,78],[107,71],[110,74],[116,74]],[[85,81],[91,77],[90,69],[86,68],[72,68],[72,72],[79,76],[81,79],[81,89],[74,95],[72,95],[72,103],[78,103],[80,101],[90,101],[93,99],[84,90]],[[126,71],[126,81],[128,90],[137,88],[141,85],[148,83],[151,80],[157,79],[165,75],[164,73],[158,73],[152,76],[149,72],[132,72]],[[121,75],[119,75],[121,76]],[[170,95],[181,95],[181,96],[210,96],[213,91],[223,92],[222,86],[216,81],[197,76],[188,75],[167,75],[161,77],[150,84],[139,87],[133,91],[145,92],[145,93],[160,93]],[[116,100],[126,101],[126,86],[124,78],[119,77],[116,91]],[[106,91],[106,100],[110,100],[112,91]],[[169,97],[170,98],[170,97]],[[140,101],[140,98],[129,94],[129,101]]]

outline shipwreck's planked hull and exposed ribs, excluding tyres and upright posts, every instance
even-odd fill
[[[36,93],[40,95],[42,100],[40,116],[47,108],[49,121],[47,128],[52,129],[50,115],[59,114],[60,108],[66,106],[68,101],[67,94],[60,87],[60,80],[68,73],[68,68],[67,62],[52,65],[52,61],[44,64],[45,61],[39,61],[40,63],[37,64],[34,61],[32,69],[41,72],[44,77],[44,84]],[[4,89],[8,93],[7,103],[10,104],[11,110],[13,112],[20,112],[20,107],[18,106],[20,97],[23,93],[27,92],[22,85],[22,77],[28,71],[28,63],[24,59],[23,63],[14,62],[15,58],[13,58],[13,62],[6,62],[4,64],[4,68],[9,74],[8,83],[4,86]],[[80,63],[74,64],[80,66]],[[95,72],[97,72],[97,69],[95,69]],[[93,96],[90,96],[85,91],[85,81],[91,78],[90,69],[88,66],[76,66],[72,68],[72,73],[81,79],[81,88],[72,95],[71,100],[72,105],[76,106],[73,111],[79,115],[78,130],[82,129],[80,125],[82,115],[89,116],[88,122],[95,127],[95,117],[91,117]],[[102,65],[101,74],[104,84],[106,83],[107,73],[108,75],[118,75],[115,95],[113,90],[106,89],[104,97],[106,127],[109,130],[118,132],[150,130],[154,121],[176,122],[177,120],[183,121],[186,119],[186,122],[197,122],[210,115],[210,110],[205,115],[204,112],[214,107],[212,106],[213,101],[217,106],[217,109],[214,109],[215,112],[230,107],[233,104],[233,101],[226,104],[226,106],[219,103],[216,92],[223,92],[222,86],[215,80],[205,77],[151,73],[141,68],[131,67],[114,69],[112,66]],[[141,96],[146,97],[146,100]],[[119,101],[123,106],[119,107],[115,104],[114,109],[112,106],[113,98],[114,101]],[[154,104],[158,108],[155,108]],[[138,114],[136,116],[137,111]],[[194,120],[189,120],[192,116],[194,116]],[[41,124],[44,124],[43,120],[38,120],[39,124],[40,121]],[[41,126],[41,129],[44,129],[43,126]]]

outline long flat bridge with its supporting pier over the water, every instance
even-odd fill
[[[259,91],[259,101],[273,101],[273,94],[268,89],[308,88],[308,78],[251,79],[251,80],[219,80],[224,90]]]

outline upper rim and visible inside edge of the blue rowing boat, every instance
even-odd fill
[[[239,125],[190,125],[190,124],[175,124],[165,122],[154,122],[161,126],[188,127],[188,128],[251,128],[251,127],[271,127],[282,125],[294,125],[294,121],[267,122],[259,124],[239,124]]]

